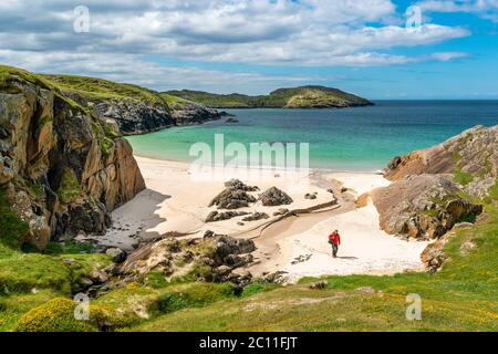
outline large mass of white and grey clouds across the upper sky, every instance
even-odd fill
[[[73,9],[81,4],[90,9],[90,33],[73,31]],[[392,50],[466,35],[469,31],[464,28],[435,23],[417,31],[405,29],[404,17],[391,0],[0,2],[0,61],[33,71],[98,74],[162,88],[198,86],[199,77],[203,83],[212,77],[222,87],[235,82],[240,86],[242,80],[256,86],[267,76],[205,70],[199,64],[165,67],[151,58],[289,66],[391,65],[461,58],[407,56]],[[320,80],[269,77],[279,84]]]

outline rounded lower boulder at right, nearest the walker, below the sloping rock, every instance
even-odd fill
[[[459,197],[460,186],[450,176],[411,176],[371,192],[381,228],[391,235],[417,240],[437,239],[456,223],[473,221],[483,206]]]

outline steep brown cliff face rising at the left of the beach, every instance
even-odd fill
[[[0,192],[29,225],[19,243],[104,232],[110,211],[145,188],[129,144],[35,75],[0,79]]]

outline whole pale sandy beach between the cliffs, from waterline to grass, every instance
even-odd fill
[[[251,238],[257,251],[249,271],[255,277],[284,271],[289,282],[310,275],[394,274],[423,268],[419,256],[426,242],[406,242],[388,236],[378,229],[378,214],[370,200],[356,202],[357,197],[373,188],[388,185],[378,174],[271,171],[264,178],[261,174],[243,174],[245,178],[240,178],[240,170],[225,168],[221,178],[199,180],[203,178],[194,176],[187,163],[136,159],[147,188],[113,212],[113,228],[96,238],[102,244],[131,251],[142,240],[165,235],[198,238],[207,230]],[[219,168],[216,173],[220,173]],[[273,216],[282,207],[264,207],[258,201],[240,210],[266,212],[269,219],[241,222],[242,217],[237,217],[206,223],[208,214],[217,210],[208,207],[210,200],[224,190],[222,180],[230,178],[256,185],[259,192],[276,186],[293,199],[284,206],[287,209],[304,212],[282,219]],[[305,194],[315,194],[317,198],[305,199]],[[332,259],[328,243],[328,235],[334,229],[342,236],[336,259]]]

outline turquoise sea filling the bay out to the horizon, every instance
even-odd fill
[[[193,160],[191,144],[309,143],[310,166],[335,170],[378,170],[401,154],[429,147],[475,125],[498,124],[498,101],[381,101],[344,110],[228,110],[225,118],[129,136],[135,154]]]

